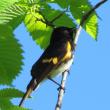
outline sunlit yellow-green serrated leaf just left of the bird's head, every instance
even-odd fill
[[[34,13],[34,15],[30,13],[26,16],[24,23],[36,43],[39,44],[41,48],[46,48],[49,44],[52,29],[46,27],[41,21],[36,21],[35,16],[42,18],[38,13]]]

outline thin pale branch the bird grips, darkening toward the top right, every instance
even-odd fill
[[[76,31],[76,35],[75,35],[75,39],[74,39],[74,44],[76,46],[77,42],[78,42],[78,39],[79,39],[79,35],[80,35],[80,32],[82,30],[82,26],[84,25],[85,21],[90,17],[90,15],[97,9],[99,8],[103,3],[105,3],[107,0],[101,0],[99,3],[97,3],[91,10],[89,10],[83,17],[82,17],[82,20],[80,22],[80,25]],[[74,54],[73,54],[73,59],[74,59]],[[65,84],[66,84],[66,80],[67,80],[67,77],[68,77],[68,72],[64,72],[62,74],[62,81],[61,81],[61,86],[63,88],[65,88]],[[58,94],[58,100],[57,100],[57,104],[56,104],[56,107],[55,107],[55,110],[60,110],[61,109],[61,105],[62,105],[62,100],[63,100],[63,96],[64,96],[64,89],[61,88],[59,90],[59,94]]]

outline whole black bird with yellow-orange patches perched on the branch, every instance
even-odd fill
[[[19,106],[22,106],[24,100],[42,81],[52,79],[70,68],[73,63],[73,34],[75,34],[74,28],[57,27],[53,30],[49,46],[32,66],[32,80],[28,84]]]

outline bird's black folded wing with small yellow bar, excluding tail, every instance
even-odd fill
[[[59,44],[56,47],[49,46],[40,59],[33,65],[31,75],[40,83],[48,74],[62,63],[67,52],[67,43]]]

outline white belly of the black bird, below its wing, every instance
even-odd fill
[[[63,63],[62,65],[59,66],[59,68],[53,70],[50,73],[50,77],[55,77],[56,75],[61,74],[65,70],[69,70],[71,65],[72,65],[72,63],[73,63],[73,59],[70,59],[68,62]]]

